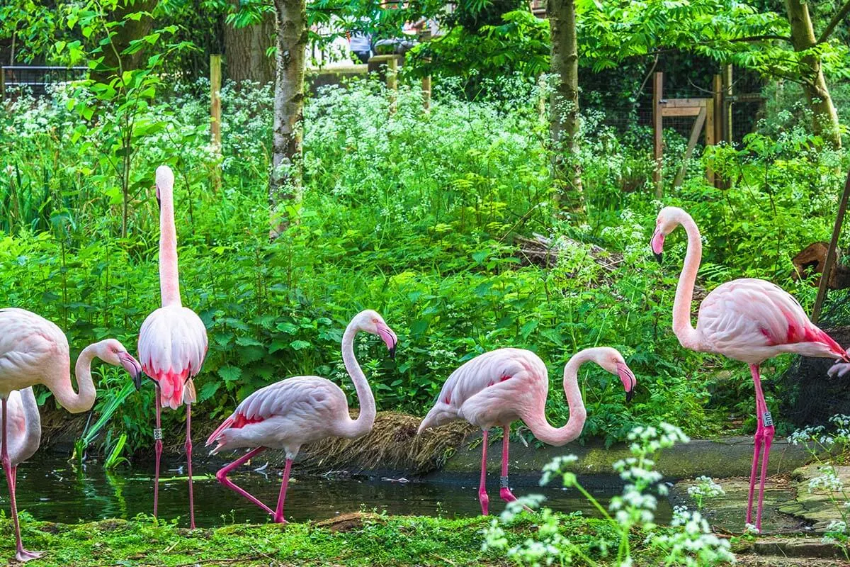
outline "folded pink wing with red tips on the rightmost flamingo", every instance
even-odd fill
[[[697,330],[712,350],[745,361],[749,360],[734,353],[742,349],[779,353],[798,345],[802,354],[808,354],[806,343],[823,351],[813,355],[841,358],[844,354],[838,343],[808,320],[796,298],[764,280],[745,278],[718,286],[700,305]]]

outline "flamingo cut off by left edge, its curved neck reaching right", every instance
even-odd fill
[[[6,473],[9,501],[12,507],[15,536],[18,539],[19,561],[29,561],[40,556],[40,553],[28,552],[20,543],[20,526],[15,510],[14,481],[17,463],[28,458],[31,449],[35,452],[38,446],[32,443],[30,434],[36,432],[40,436],[40,422],[37,408],[35,416],[31,417],[26,388],[35,384],[44,384],[66,410],[71,413],[88,411],[94,405],[95,389],[92,380],[92,360],[97,357],[107,364],[123,366],[133,377],[138,379],[141,366],[133,356],[127,353],[122,343],[114,338],[107,338],[99,343],[88,345],[77,357],[77,387],[74,392],[71,386],[71,354],[65,333],[43,317],[25,309],[0,309],[0,400],[2,400],[2,447],[0,459],[3,461],[3,471]],[[20,437],[20,414],[14,409],[17,405],[13,395],[14,390],[24,390],[22,398],[25,402],[26,434]],[[34,401],[34,400],[33,400]],[[12,406],[10,408],[10,405]],[[32,428],[32,429],[31,429]],[[23,439],[22,445],[12,445],[8,436]],[[11,453],[11,454],[10,454]]]

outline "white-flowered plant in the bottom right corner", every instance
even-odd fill
[[[838,515],[838,519],[833,519],[826,526],[823,541],[839,544],[845,558],[850,560],[850,548],[847,547],[850,542],[850,532],[847,531],[850,491],[838,475],[835,464],[847,462],[850,458],[850,416],[832,416],[830,423],[835,426],[835,431],[827,431],[822,425],[802,428],[791,434],[788,440],[809,451],[820,473],[809,480],[808,491],[825,495]]]

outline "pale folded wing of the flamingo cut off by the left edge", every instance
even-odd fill
[[[26,309],[0,309],[0,394],[40,383],[45,367],[54,371],[59,362],[71,365],[58,326]]]

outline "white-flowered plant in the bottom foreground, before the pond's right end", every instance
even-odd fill
[[[560,478],[566,488],[578,490],[587,498],[599,515],[607,520],[610,530],[618,541],[616,551],[609,547],[608,541],[600,538],[596,542],[595,553],[602,558],[615,554],[611,564],[629,567],[633,564],[634,542],[632,532],[643,533],[643,545],[649,553],[664,555],[666,565],[686,565],[705,567],[734,561],[729,550],[729,542],[711,533],[711,529],[699,512],[677,507],[669,527],[655,524],[655,511],[658,496],[666,496],[667,488],[661,484],[661,474],[655,470],[653,456],[662,449],[668,449],[676,443],[687,443],[689,438],[682,430],[660,423],[658,428],[638,426],[628,435],[632,441],[632,456],[614,463],[614,470],[626,482],[622,496],[615,496],[608,509],[602,506],[590,492],[579,483],[570,465],[577,460],[575,455],[560,456],[543,468],[541,485],[547,485],[553,479]],[[493,549],[507,553],[507,557],[517,564],[571,565],[578,559],[582,564],[593,566],[600,563],[591,557],[591,550],[581,547],[564,535],[563,517],[550,508],[541,508],[539,536],[528,539],[513,547],[507,541],[505,528],[523,513],[523,506],[537,507],[541,496],[526,496],[517,502],[510,502],[499,519],[493,519],[490,527],[484,531],[484,549]],[[504,527],[503,527],[504,526]]]

